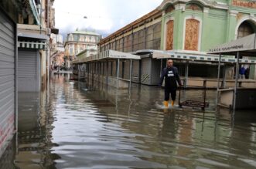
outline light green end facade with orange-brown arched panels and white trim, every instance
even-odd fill
[[[247,0],[165,0],[161,49],[207,54],[217,45],[256,32],[256,2]],[[251,78],[254,77],[251,66]]]

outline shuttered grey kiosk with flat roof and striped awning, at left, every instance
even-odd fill
[[[46,48],[46,35],[19,34],[18,91],[38,92],[41,87],[39,50]]]

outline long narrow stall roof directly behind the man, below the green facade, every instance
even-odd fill
[[[172,52],[172,51],[153,51],[153,58],[155,59],[181,59],[181,60],[193,60],[197,62],[210,62],[210,63],[218,63],[219,57],[214,55],[198,55],[198,54],[186,54],[181,52]],[[222,58],[220,60],[221,63],[236,63],[237,59],[234,58]],[[256,60],[249,59],[239,59],[240,63],[246,64],[256,64]]]

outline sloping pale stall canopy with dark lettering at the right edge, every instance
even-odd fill
[[[241,39],[224,43],[213,49],[210,49],[210,54],[237,55],[240,56],[256,56],[256,34],[247,35]]]

